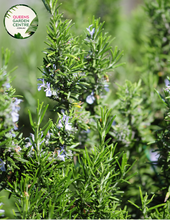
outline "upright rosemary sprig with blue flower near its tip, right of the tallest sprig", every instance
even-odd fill
[[[88,34],[83,42],[88,47],[88,52],[84,56],[86,65],[83,71],[88,73],[86,81],[90,84],[91,94],[85,96],[89,93],[89,90],[86,90],[83,95],[85,100],[82,101],[86,101],[90,105],[93,104],[89,107],[90,109],[94,108],[95,105],[99,105],[102,102],[101,97],[104,90],[108,91],[109,77],[107,72],[122,65],[116,65],[122,57],[122,52],[120,53],[117,48],[114,51],[112,50],[110,37],[107,33],[103,33],[103,25],[104,23],[100,23],[100,19],[95,20],[93,18],[92,24],[86,28],[90,35]],[[91,30],[92,26],[93,29]],[[110,59],[106,59],[107,55],[110,56]],[[91,111],[94,112],[94,110]]]

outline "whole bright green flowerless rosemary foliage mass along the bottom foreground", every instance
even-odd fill
[[[126,209],[118,208],[120,195],[123,193],[119,192],[119,185],[121,182],[127,182],[129,178],[126,174],[131,169],[127,164],[126,155],[122,153],[114,155],[115,147],[107,145],[106,142],[96,146],[92,154],[86,149],[81,160],[79,159],[77,168],[73,161],[56,163],[52,156],[54,154],[49,151],[50,148],[48,151],[45,149],[42,151],[43,144],[40,145],[51,126],[49,122],[45,126],[48,129],[39,129],[46,109],[47,107],[42,110],[42,104],[38,106],[36,123],[33,123],[30,115],[34,131],[34,138],[31,140],[33,152],[27,156],[27,160],[24,158],[28,155],[30,147],[25,150],[23,146],[22,150],[17,152],[19,156],[16,160],[22,164],[18,165],[20,170],[14,171],[17,177],[15,181],[7,182],[6,190],[16,198],[18,211],[14,211],[14,218],[46,219],[50,216],[95,219],[99,216],[106,218],[127,216]],[[114,120],[112,118],[108,123],[110,113],[107,110],[101,111],[101,118],[107,131]],[[40,135],[42,132],[43,135]],[[107,133],[102,127],[99,128],[99,133],[103,138],[106,137]]]

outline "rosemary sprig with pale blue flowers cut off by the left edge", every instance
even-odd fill
[[[8,49],[4,51],[2,48],[2,67],[0,69],[0,169],[6,171],[6,174],[8,173],[9,164],[15,166],[13,155],[18,147],[18,140],[15,137],[17,135],[18,112],[21,102],[21,99],[14,98],[15,90],[10,84],[10,75],[7,72],[9,59],[10,51]]]

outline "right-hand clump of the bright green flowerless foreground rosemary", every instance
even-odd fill
[[[108,122],[110,114],[106,111],[101,114],[105,117],[105,120],[102,117],[104,123]],[[106,125],[108,130],[109,127],[109,124]],[[106,137],[102,127],[98,131],[103,138]],[[122,182],[127,183],[126,173],[131,167],[128,168],[124,153],[114,153],[115,147],[101,142],[90,155],[85,149],[81,160],[79,157],[79,166],[74,170],[76,181],[72,183],[76,198],[73,214],[77,214],[76,218],[127,217],[126,210],[118,208],[123,194],[119,189]]]

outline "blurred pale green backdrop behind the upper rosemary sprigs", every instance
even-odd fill
[[[18,69],[12,73],[14,77],[12,86],[16,88],[16,94],[23,96],[21,103],[19,127],[22,128],[24,136],[29,136],[31,129],[29,126],[28,109],[35,117],[37,99],[49,103],[43,91],[37,90],[37,78],[41,77],[41,72],[37,67],[41,67],[43,61],[42,51],[46,48],[46,25],[49,23],[50,15],[44,8],[40,0],[8,0],[0,1],[0,45],[9,48],[13,53],[9,63],[9,70],[15,66]],[[27,39],[15,39],[8,35],[3,25],[3,18],[6,11],[15,4],[26,4],[32,7],[38,14],[38,29]],[[104,29],[115,40],[112,46],[118,46],[124,51],[121,62],[126,62],[114,72],[109,73],[110,88],[113,96],[117,89],[115,82],[123,84],[125,79],[136,81],[140,78],[137,66],[142,65],[143,41],[145,40],[148,22],[146,13],[143,11],[143,1],[137,0],[59,0],[62,3],[60,12],[64,13],[64,18],[72,19],[75,25],[72,32],[75,35],[84,35],[85,29],[90,25],[92,16],[100,17],[105,21]],[[85,36],[85,35],[84,35]],[[53,105],[52,101],[50,105]],[[50,107],[49,107],[50,109]],[[48,111],[46,117],[55,118],[54,113]]]

